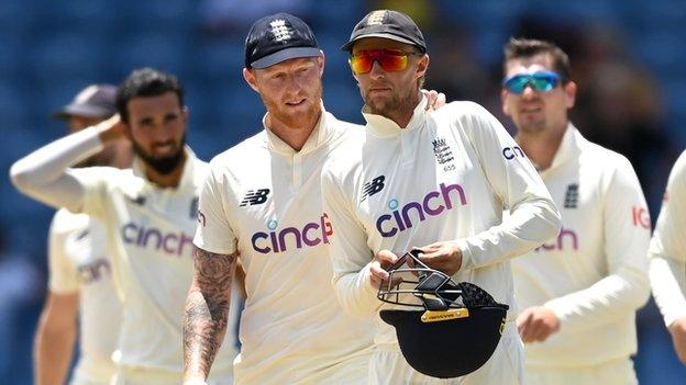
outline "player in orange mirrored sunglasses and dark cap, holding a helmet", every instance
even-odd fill
[[[511,258],[554,237],[560,215],[517,144],[485,109],[453,102],[428,113],[419,89],[429,68],[421,31],[407,15],[368,13],[343,46],[367,121],[364,140],[336,150],[322,174],[333,228],[333,283],[343,307],[377,324],[369,384],[517,384],[521,341],[514,327]],[[350,156],[354,154],[355,156]],[[502,207],[511,215],[502,220]],[[420,259],[473,282],[510,306],[490,360],[463,377],[423,375],[405,361],[376,297],[384,268],[419,247]],[[455,347],[462,349],[463,347]]]

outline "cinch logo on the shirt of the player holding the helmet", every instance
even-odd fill
[[[467,204],[464,190],[457,183],[445,185],[441,183],[440,191],[429,192],[424,199],[420,202],[408,202],[402,207],[398,208],[399,203],[392,199],[388,201],[388,208],[392,210],[391,214],[384,214],[376,219],[376,229],[384,238],[389,238],[398,234],[398,231],[405,231],[412,227],[412,218],[410,218],[410,212],[417,212],[417,218],[419,222],[424,222],[427,215],[436,216],[446,210],[453,208],[453,201],[451,200],[451,193],[454,192],[455,197],[460,197],[460,204],[462,206]],[[455,195],[456,194],[456,195]]]

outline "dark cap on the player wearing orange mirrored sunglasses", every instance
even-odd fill
[[[353,29],[351,38],[341,49],[352,50],[353,45],[361,38],[383,37],[391,41],[410,44],[422,53],[427,52],[427,42],[419,26],[407,14],[392,10],[372,11],[364,16]]]

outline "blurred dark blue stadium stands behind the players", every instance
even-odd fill
[[[501,47],[509,36],[556,42],[580,94],[573,121],[628,156],[653,222],[670,167],[686,147],[684,0],[1,0],[0,167],[65,134],[51,114],[92,82],[119,83],[153,66],[179,77],[189,144],[203,159],[262,129],[264,109],[244,83],[243,39],[259,16],[308,21],[327,54],[324,101],[362,123],[361,99],[339,49],[372,9],[411,14],[431,56],[428,88],[474,100],[501,118]],[[31,346],[45,295],[53,211],[0,183],[0,383],[31,384]],[[179,315],[180,317],[180,315]],[[684,384],[686,367],[654,304],[640,312],[642,384]]]

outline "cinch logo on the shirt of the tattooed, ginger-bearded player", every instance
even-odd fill
[[[319,218],[319,223],[307,223],[301,229],[286,227],[276,231],[278,227],[276,219],[269,220],[267,227],[270,230],[268,234],[258,231],[251,237],[253,249],[263,254],[288,251],[288,246],[292,247],[294,244],[296,249],[301,249],[305,246],[314,247],[322,242],[329,244],[329,238],[333,235],[333,227],[327,213],[323,213]],[[290,241],[288,241],[289,239]]]

